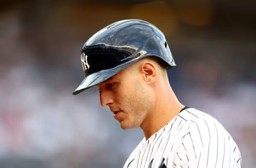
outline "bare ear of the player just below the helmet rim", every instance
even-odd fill
[[[156,80],[156,65],[146,61],[141,64],[141,72],[146,82],[152,83]]]

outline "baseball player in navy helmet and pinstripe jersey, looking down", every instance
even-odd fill
[[[131,167],[242,167],[239,149],[209,114],[182,105],[167,77],[175,66],[163,33],[142,20],[110,24],[86,41],[85,78],[74,95],[97,85],[122,129],[145,138],[124,164]]]

